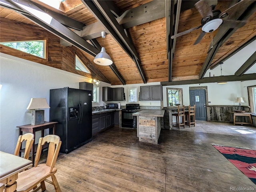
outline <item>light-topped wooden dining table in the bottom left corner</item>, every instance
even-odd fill
[[[5,184],[5,192],[16,191],[18,173],[32,165],[28,159],[0,151],[0,183]]]

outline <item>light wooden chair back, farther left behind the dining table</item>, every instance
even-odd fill
[[[29,152],[31,151],[31,147],[34,142],[34,134],[33,133],[26,133],[24,135],[20,135],[18,138],[18,142],[16,145],[16,149],[14,151],[14,155],[20,156],[20,147],[22,145],[22,142],[26,141],[25,151],[24,151],[24,158],[29,158]]]

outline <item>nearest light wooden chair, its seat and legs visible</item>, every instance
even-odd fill
[[[49,143],[46,163],[38,165],[38,161],[42,152],[42,146],[45,143]],[[39,189],[44,191],[46,190],[44,181],[54,185],[56,192],[61,192],[58,181],[54,176],[57,171],[57,168],[54,167],[54,165],[60,151],[60,145],[61,141],[58,135],[46,135],[45,137],[41,137],[39,139],[36,151],[35,167],[32,167],[18,174],[17,192],[28,192],[32,189],[33,192],[36,192]],[[50,176],[52,177],[52,181],[46,179]],[[38,184],[40,185],[37,186]]]

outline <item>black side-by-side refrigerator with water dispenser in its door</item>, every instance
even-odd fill
[[[58,121],[60,153],[69,153],[92,141],[92,91],[74,88],[50,90],[50,121]]]

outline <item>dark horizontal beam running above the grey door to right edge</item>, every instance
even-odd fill
[[[228,75],[228,76],[214,76],[214,77],[205,77],[203,79],[195,79],[195,80],[181,80],[181,81],[164,81],[161,82],[161,85],[168,86],[168,85],[186,85],[186,84],[200,84],[200,83],[214,83],[220,81],[245,81],[245,80],[256,80],[256,73],[252,74],[244,74],[242,76],[236,75]]]

